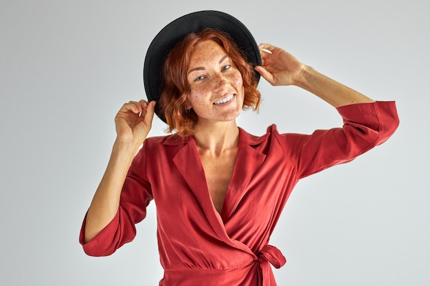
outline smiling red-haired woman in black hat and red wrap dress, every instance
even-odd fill
[[[269,126],[260,137],[238,128],[241,110],[258,108],[260,75],[324,99],[343,128],[302,135]],[[115,117],[117,139],[80,242],[89,255],[112,254],[155,200],[159,285],[276,285],[270,264],[285,258],[268,242],[297,181],[353,160],[398,126],[394,102],[374,102],[283,49],[257,46],[221,12],[188,14],[161,30],[144,81],[150,102],[124,104]],[[155,112],[174,134],[146,138]]]

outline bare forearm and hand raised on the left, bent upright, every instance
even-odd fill
[[[88,242],[111,222],[120,206],[122,186],[127,171],[148,136],[154,117],[155,102],[128,102],[115,117],[117,138],[104,176],[89,206],[84,229]]]

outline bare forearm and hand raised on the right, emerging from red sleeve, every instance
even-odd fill
[[[269,44],[260,44],[262,67],[255,67],[273,86],[295,85],[310,91],[335,108],[348,104],[374,102],[312,67],[299,62],[290,53]]]

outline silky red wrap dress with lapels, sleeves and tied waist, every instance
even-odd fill
[[[164,277],[159,285],[276,285],[271,265],[285,258],[269,238],[301,178],[346,163],[383,143],[398,126],[394,102],[338,108],[343,128],[263,136],[240,129],[239,149],[223,211],[216,212],[192,137],[148,138],[128,171],[120,208],[94,239],[92,256],[112,254],[135,237],[135,224],[155,200]],[[271,265],[270,265],[271,264]]]

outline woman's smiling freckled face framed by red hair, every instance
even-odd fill
[[[186,108],[203,121],[231,121],[242,111],[242,75],[224,49],[213,40],[196,45],[187,73],[190,94]]]

